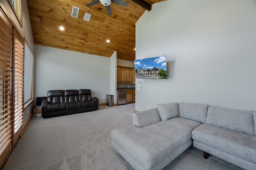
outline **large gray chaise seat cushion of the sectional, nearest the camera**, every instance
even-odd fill
[[[176,117],[138,128],[128,125],[111,131],[111,138],[143,167],[150,169],[191,138],[197,121]]]

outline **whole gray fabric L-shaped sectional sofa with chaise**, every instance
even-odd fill
[[[247,170],[256,169],[256,112],[192,103],[158,104],[111,131],[112,146],[136,170],[160,170],[192,144]]]

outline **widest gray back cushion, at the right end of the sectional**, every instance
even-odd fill
[[[237,132],[254,134],[253,111],[236,111],[209,107],[206,123]]]

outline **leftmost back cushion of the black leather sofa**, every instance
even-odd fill
[[[50,90],[47,92],[47,100],[50,104],[64,103],[64,90]]]

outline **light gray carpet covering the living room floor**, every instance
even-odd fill
[[[135,104],[100,106],[98,111],[32,118],[3,170],[133,170],[111,146],[110,131],[132,124]],[[164,170],[238,170],[191,146]]]

